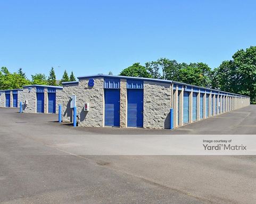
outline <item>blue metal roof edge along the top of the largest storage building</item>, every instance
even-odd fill
[[[106,75],[106,74],[95,74],[95,75],[79,76],[77,78],[78,79],[83,79],[83,78],[93,78],[93,77],[94,78],[111,77],[111,78],[135,79],[135,80],[143,80],[143,81],[151,81],[151,82],[169,83],[169,84],[179,84],[179,85],[185,85],[185,86],[192,86],[192,87],[196,87],[196,88],[203,88],[204,90],[216,91],[216,92],[220,92],[220,93],[229,93],[229,92],[225,92],[225,91],[214,90],[212,88],[205,88],[205,87],[202,87],[202,86],[195,86],[195,85],[191,85],[191,84],[185,84],[185,83],[181,83],[181,82],[165,80],[165,79],[157,79],[157,78],[144,78],[144,77],[133,77],[133,76],[114,76],[114,75]],[[229,94],[249,97],[249,96],[246,96],[246,95],[240,95],[240,94],[234,94],[234,93],[229,93]]]

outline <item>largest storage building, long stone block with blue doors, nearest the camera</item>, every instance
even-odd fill
[[[102,74],[78,79],[62,83],[56,104],[62,104],[63,121],[72,122],[70,96],[76,95],[78,126],[84,127],[169,129],[171,108],[178,127],[222,113],[221,95],[236,96],[236,108],[250,104],[247,96],[162,79]]]

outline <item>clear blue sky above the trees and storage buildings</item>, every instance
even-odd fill
[[[160,57],[211,68],[256,45],[255,1],[0,0],[0,66],[114,75]]]

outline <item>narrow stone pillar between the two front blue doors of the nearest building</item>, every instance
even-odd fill
[[[127,85],[120,79],[120,128],[127,128]]]

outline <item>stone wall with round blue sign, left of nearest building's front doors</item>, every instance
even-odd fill
[[[79,84],[64,85],[56,92],[56,104],[62,104],[64,122],[72,122],[73,110],[70,108],[70,95],[77,97],[78,126],[104,126],[104,79],[95,78],[94,86],[88,86],[89,79],[80,79]],[[84,104],[89,103],[89,111],[84,111]],[[57,108],[56,108],[57,110]]]

